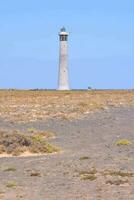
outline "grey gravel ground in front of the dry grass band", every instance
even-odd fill
[[[0,158],[0,200],[133,200],[134,108],[111,108],[86,118],[28,124],[0,120],[0,128],[50,130],[58,154]],[[106,173],[107,172],[107,173]]]

